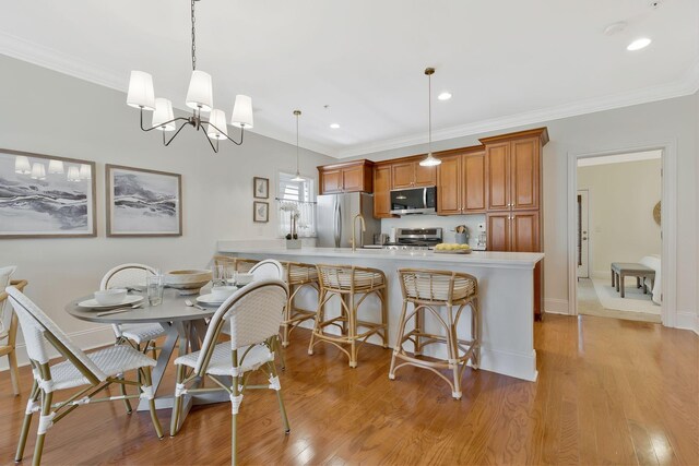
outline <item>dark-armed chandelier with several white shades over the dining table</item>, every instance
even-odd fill
[[[182,128],[191,126],[197,131],[203,129],[211,148],[215,153],[218,153],[218,141],[221,140],[228,140],[236,145],[242,144],[245,130],[252,128],[252,99],[247,95],[236,96],[233,116],[230,117],[230,126],[240,129],[240,140],[236,141],[228,135],[226,113],[223,110],[214,108],[211,74],[197,70],[197,28],[194,27],[194,3],[197,1],[199,0],[192,0],[191,3],[192,77],[189,81],[186,99],[187,107],[192,109],[191,117],[175,118],[170,100],[166,98],[155,98],[153,76],[143,71],[131,71],[127,105],[141,110],[141,130],[158,130],[163,132],[163,144],[165,146],[168,146],[173,140],[177,138]],[[149,128],[143,126],[144,111],[153,112],[153,119]],[[208,112],[209,119],[202,117],[202,112]],[[181,121],[179,128],[177,128],[178,121]],[[175,134],[169,139],[166,138],[165,133],[171,131],[175,131]]]

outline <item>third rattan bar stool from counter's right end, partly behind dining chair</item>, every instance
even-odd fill
[[[294,298],[304,288],[313,288],[320,297],[320,285],[318,283],[318,268],[315,264],[304,264],[300,262],[285,262],[286,284],[288,285],[288,302],[284,309],[284,323],[282,324],[282,346],[286,348],[289,344],[292,331],[303,322],[316,318],[316,310],[303,309],[294,303]]]

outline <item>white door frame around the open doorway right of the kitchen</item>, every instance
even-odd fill
[[[677,325],[677,142],[651,141],[627,147],[606,151],[568,153],[568,313],[578,315],[578,266],[576,261],[576,203],[578,195],[578,159],[627,154],[630,152],[663,151],[663,183],[661,231],[663,249],[662,274],[662,323]]]

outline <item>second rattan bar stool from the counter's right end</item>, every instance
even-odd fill
[[[381,337],[383,347],[388,348],[388,294],[386,274],[377,268],[357,267],[354,265],[318,264],[318,282],[320,295],[316,323],[308,345],[308,354],[313,354],[313,346],[327,342],[336,346],[350,358],[350,367],[357,367],[359,346],[374,334]],[[368,322],[358,319],[359,306],[364,300],[376,295],[381,301],[381,322]],[[333,297],[340,297],[340,315],[325,318],[325,303]],[[323,333],[329,325],[340,328],[341,335]],[[358,333],[359,330],[363,333]],[[350,350],[343,345],[350,345]]]

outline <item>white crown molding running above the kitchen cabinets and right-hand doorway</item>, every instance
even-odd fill
[[[642,89],[629,91],[612,96],[579,100],[556,107],[542,108],[519,115],[489,120],[476,121],[467,124],[445,128],[433,131],[433,142],[445,141],[454,138],[463,138],[493,131],[507,130],[511,128],[538,124],[546,121],[559,120],[561,118],[577,117],[580,115],[594,113],[596,111],[612,110],[615,108],[630,107],[639,104],[665,100],[673,97],[692,95],[699,91],[699,62],[689,68],[683,76],[672,83],[657,86],[644,87]],[[395,138],[384,141],[377,141],[337,151],[332,156],[337,158],[366,156],[368,154],[402,148],[412,145],[427,144],[427,136]]]

